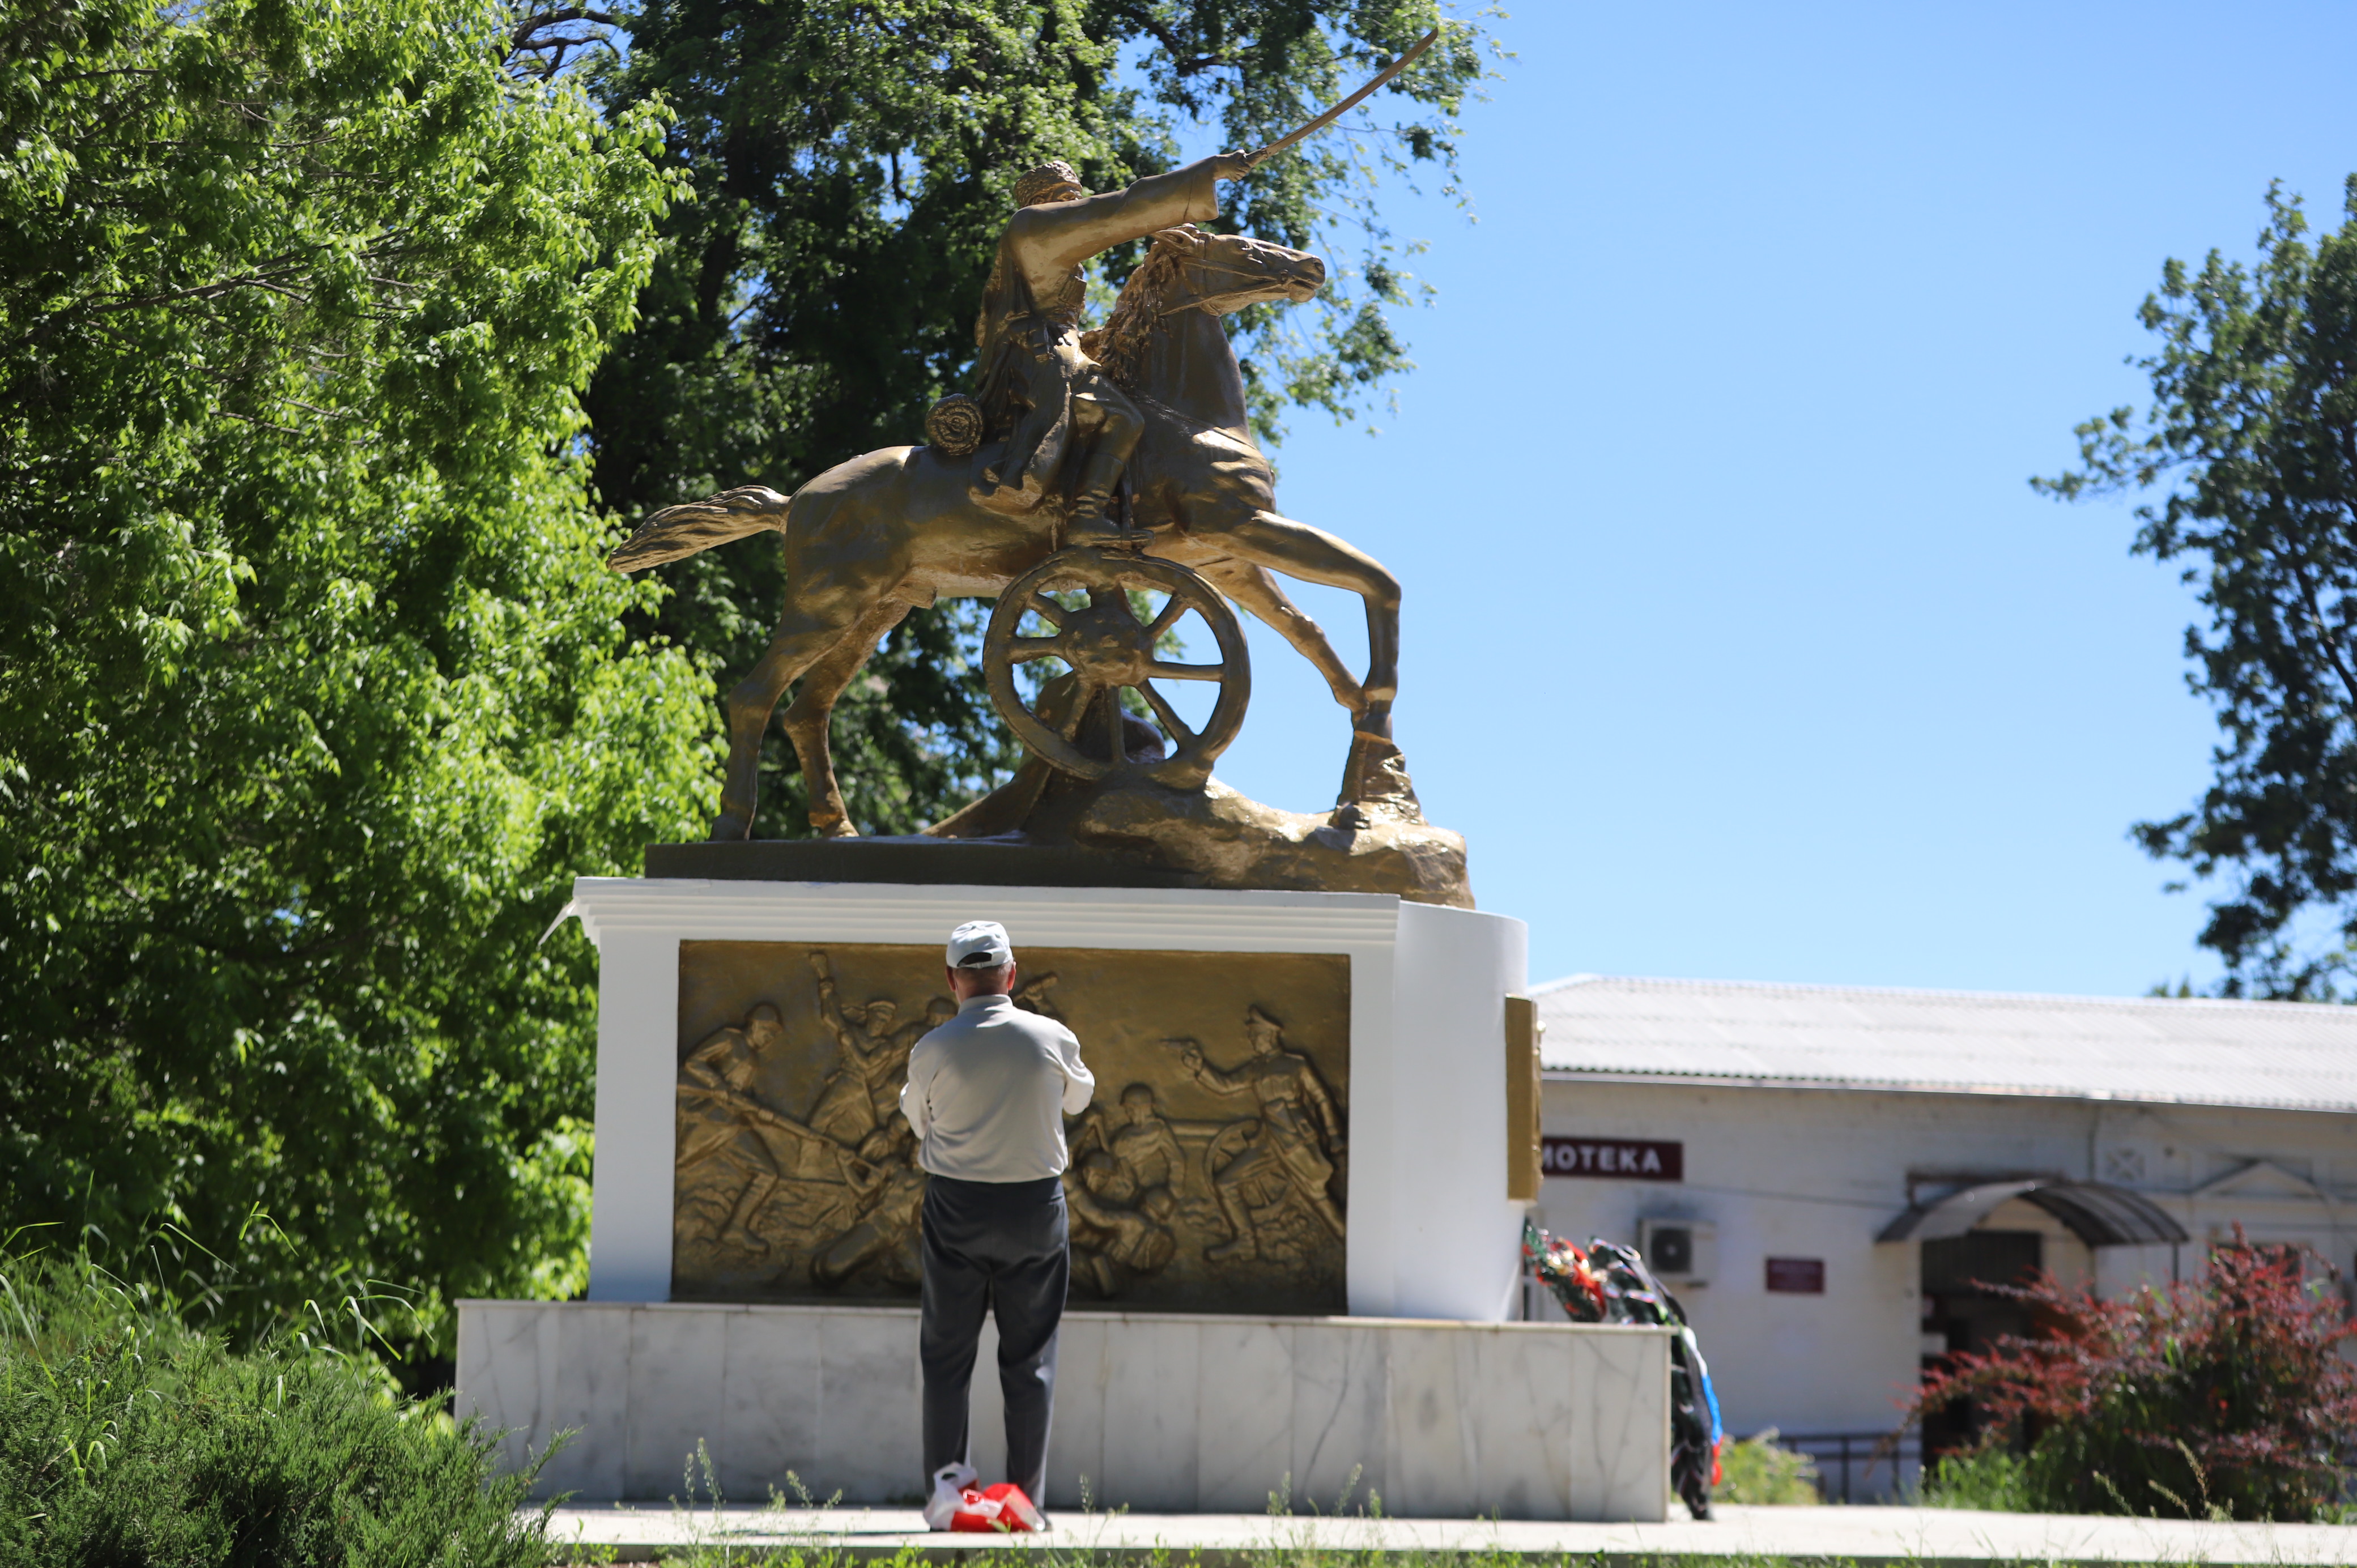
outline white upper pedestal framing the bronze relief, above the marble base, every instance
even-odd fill
[[[940,943],[999,920],[1023,948],[1351,957],[1351,1316],[1508,1318],[1504,1000],[1520,920],[1386,894],[582,877],[599,946],[592,1302],[672,1297],[681,941]],[[1082,1037],[1082,1054],[1089,1042]]]

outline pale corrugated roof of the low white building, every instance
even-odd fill
[[[2357,1111],[2357,1007],[1574,974],[1558,1073]]]

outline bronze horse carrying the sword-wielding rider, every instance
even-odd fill
[[[1155,236],[1089,351],[1131,391],[1146,431],[1129,460],[1129,526],[1157,556],[1197,571],[1221,594],[1275,627],[1351,710],[1353,743],[1341,804],[1388,802],[1414,811],[1391,745],[1398,691],[1400,585],[1348,542],[1275,509],[1275,474],[1247,429],[1244,377],[1221,316],[1254,302],[1303,302],[1325,285],[1325,262],[1301,250],[1193,226]],[[988,457],[988,448],[983,453]],[[1054,502],[1009,516],[971,495],[976,457],[931,446],[889,446],[839,462],[794,495],[766,486],[655,512],[608,556],[641,571],[773,528],[785,535],[787,592],[778,630],[728,693],[728,776],[714,839],[752,832],[761,736],[797,679],[785,733],[808,780],[811,825],[853,837],[827,719],[834,700],[915,606],[938,597],[997,597],[1058,547]],[[1367,674],[1351,670],[1273,573],[1355,592],[1367,606]]]

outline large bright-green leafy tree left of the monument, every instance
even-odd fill
[[[0,12],[0,1233],[167,1221],[240,1332],[577,1283],[594,960],[535,938],[709,809],[577,408],[658,116],[509,26]]]

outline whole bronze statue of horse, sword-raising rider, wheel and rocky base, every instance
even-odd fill
[[[1400,585],[1365,552],[1275,509],[1275,474],[1249,431],[1221,316],[1303,302],[1325,285],[1315,255],[1190,222],[1211,217],[1214,182],[1252,160],[1221,153],[1108,196],[1087,196],[1065,165],[1032,170],[985,290],[981,389],[936,406],[926,446],[853,457],[790,498],[745,486],[667,507],[613,552],[610,568],[641,571],[759,531],[783,535],[785,608],[768,651],[728,693],[712,839],[750,835],[761,736],[797,681],[783,729],[808,780],[811,825],[856,837],[827,750],[834,700],[910,608],[997,597],[985,679],[1028,762],[926,828],[929,839],[1080,846],[1202,887],[1388,891],[1471,908],[1464,839],[1424,821],[1391,738]],[[1108,323],[1082,332],[1080,262],[1129,238],[1150,238],[1150,250]],[[1362,677],[1277,573],[1365,601]],[[1211,778],[1252,691],[1230,604],[1308,658],[1351,714],[1334,811],[1277,811]],[[1188,615],[1209,632],[1214,663],[1164,653]],[[1188,724],[1157,681],[1216,686],[1209,719]]]

